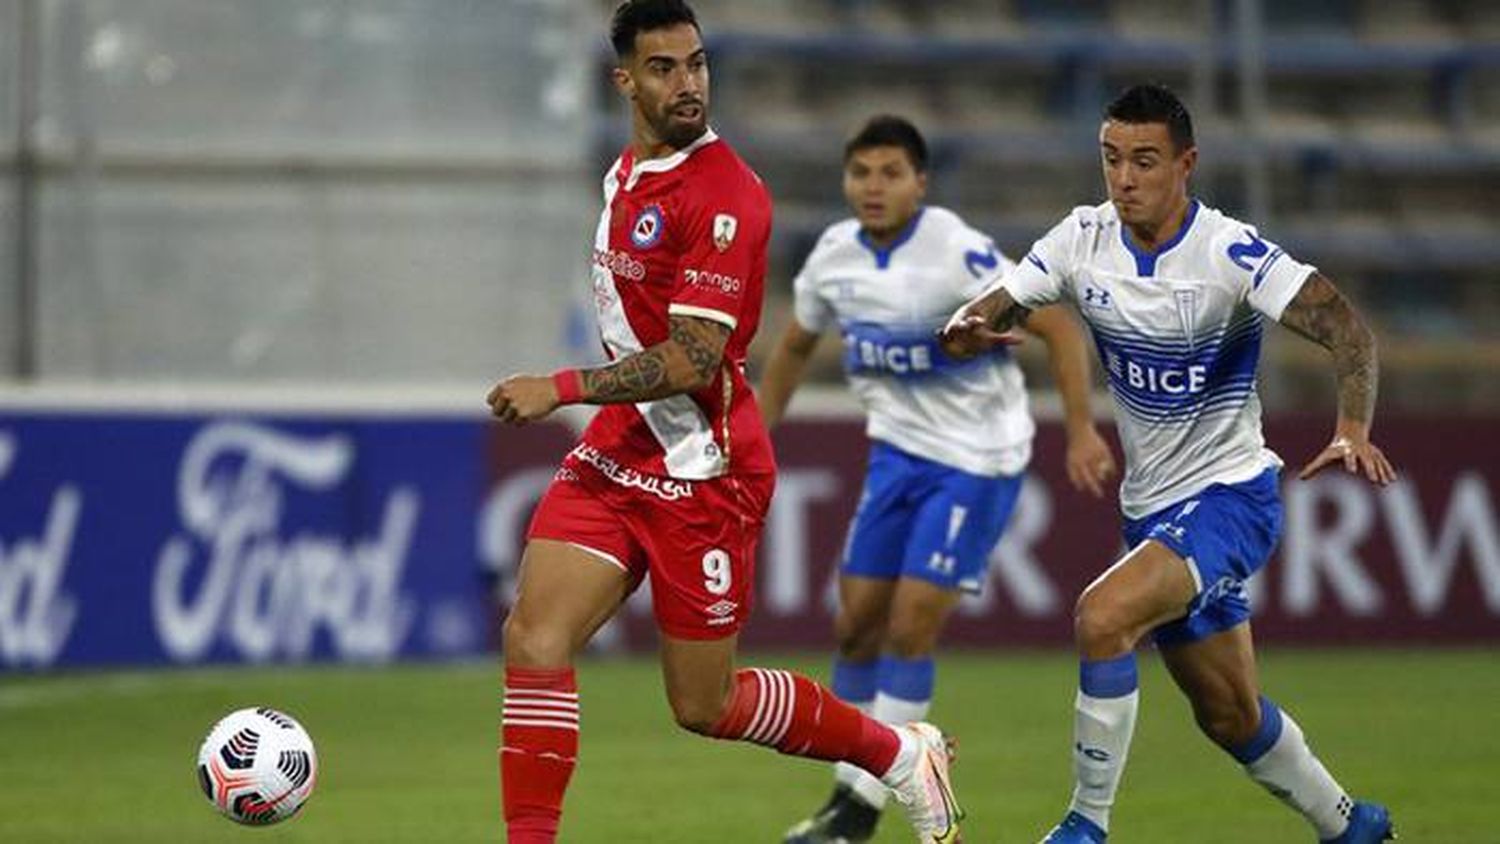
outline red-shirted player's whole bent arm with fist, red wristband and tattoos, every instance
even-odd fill
[[[513,375],[489,391],[504,423],[540,420],[560,405],[621,405],[666,399],[714,382],[730,328],[698,316],[668,318],[668,339],[609,366],[555,375]]]

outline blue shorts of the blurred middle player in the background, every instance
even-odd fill
[[[1022,475],[970,475],[873,441],[838,571],[976,594],[1020,489]]]

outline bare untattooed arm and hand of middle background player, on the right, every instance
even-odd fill
[[[1094,426],[1094,411],[1089,406],[1089,351],[1083,343],[1083,331],[1056,304],[1028,313],[1023,328],[1047,343],[1047,361],[1062,396],[1064,426],[1068,432],[1068,481],[1074,489],[1104,498],[1104,484],[1114,477],[1114,456]]]

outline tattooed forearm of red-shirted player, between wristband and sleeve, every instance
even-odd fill
[[[609,366],[585,369],[582,399],[591,405],[651,402],[712,384],[730,328],[696,316],[670,316],[668,340]]]

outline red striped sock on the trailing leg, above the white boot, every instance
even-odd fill
[[[879,777],[896,762],[896,730],[790,672],[741,669],[712,736],[776,748],[789,756],[849,762]]]

